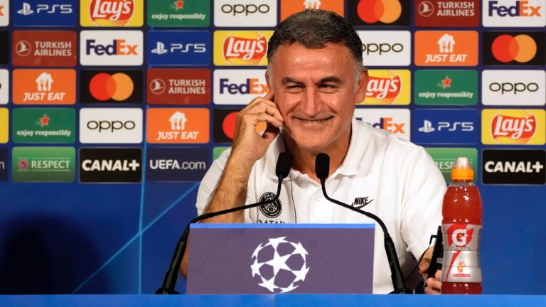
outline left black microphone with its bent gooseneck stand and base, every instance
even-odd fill
[[[210,217],[225,215],[228,213],[255,208],[261,205],[267,205],[269,203],[276,202],[279,199],[279,196],[281,194],[282,181],[284,178],[287,178],[288,174],[290,173],[291,164],[292,164],[292,156],[290,154],[287,154],[286,152],[282,152],[281,154],[279,154],[279,158],[277,159],[277,166],[275,167],[275,175],[277,175],[277,178],[279,179],[279,183],[277,185],[277,195],[275,195],[275,197],[272,200],[265,200],[259,203],[253,203],[250,205],[244,205],[244,206],[235,207],[235,208],[231,208],[227,210],[221,210],[218,212],[205,213],[203,215],[199,215],[198,217],[194,217],[193,220],[188,222],[188,225],[186,225],[186,229],[184,230],[182,236],[180,237],[180,239],[178,239],[178,243],[176,244],[176,249],[174,250],[173,259],[171,260],[171,265],[169,266],[168,271],[165,275],[163,285],[161,286],[161,288],[157,289],[156,294],[179,294],[177,291],[174,290],[174,287],[176,286],[176,281],[178,279],[178,269],[180,268],[180,264],[182,263],[182,258],[184,257],[184,254],[186,253],[186,244],[188,242],[188,235],[190,232],[191,224],[199,222],[200,220],[208,219]]]

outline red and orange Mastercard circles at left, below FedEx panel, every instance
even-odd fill
[[[92,97],[100,101],[109,99],[122,101],[129,98],[133,90],[133,80],[122,72],[114,73],[114,75],[100,72],[92,77],[89,83],[89,91]]]

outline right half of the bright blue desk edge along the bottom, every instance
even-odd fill
[[[512,307],[546,306],[546,296],[510,295],[369,295],[369,294],[278,294],[275,307],[427,306]]]

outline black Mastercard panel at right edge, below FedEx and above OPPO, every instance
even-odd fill
[[[544,32],[483,33],[483,64],[545,65]]]

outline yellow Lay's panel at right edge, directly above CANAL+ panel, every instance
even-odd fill
[[[481,142],[503,145],[544,145],[546,112],[542,109],[484,109]]]

